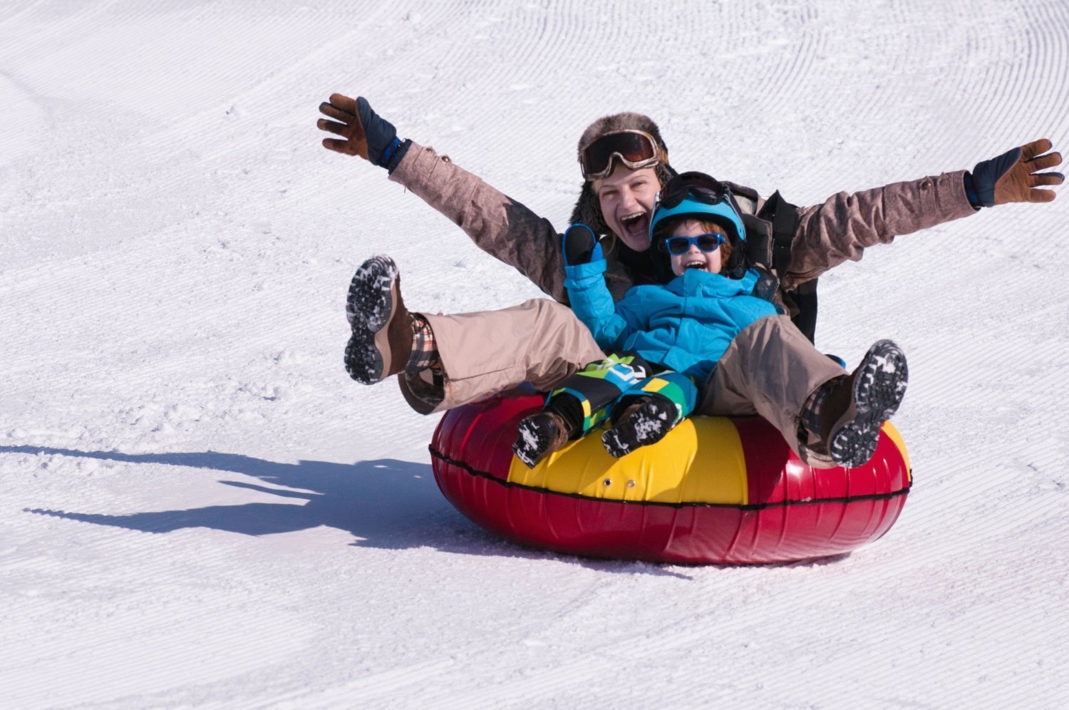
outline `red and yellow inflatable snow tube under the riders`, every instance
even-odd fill
[[[884,535],[912,483],[885,423],[862,468],[815,469],[760,417],[694,417],[622,459],[601,437],[571,442],[533,469],[512,453],[542,397],[498,398],[445,414],[431,443],[446,498],[524,545],[668,562],[785,562],[848,553]]]

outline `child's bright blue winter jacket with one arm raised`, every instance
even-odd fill
[[[566,266],[572,310],[605,351],[635,351],[651,364],[704,382],[731,340],[776,307],[750,295],[759,274],[741,279],[688,269],[666,284],[630,289],[616,304],[605,261]]]

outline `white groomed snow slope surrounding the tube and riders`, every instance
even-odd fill
[[[0,4],[0,705],[1062,707],[1069,195],[821,279],[818,344],[896,339],[916,480],[830,560],[527,550],[438,492],[342,367],[372,253],[406,304],[538,295],[323,150],[363,94],[563,227],[578,134],[809,204],[1069,145],[1066,0]]]

